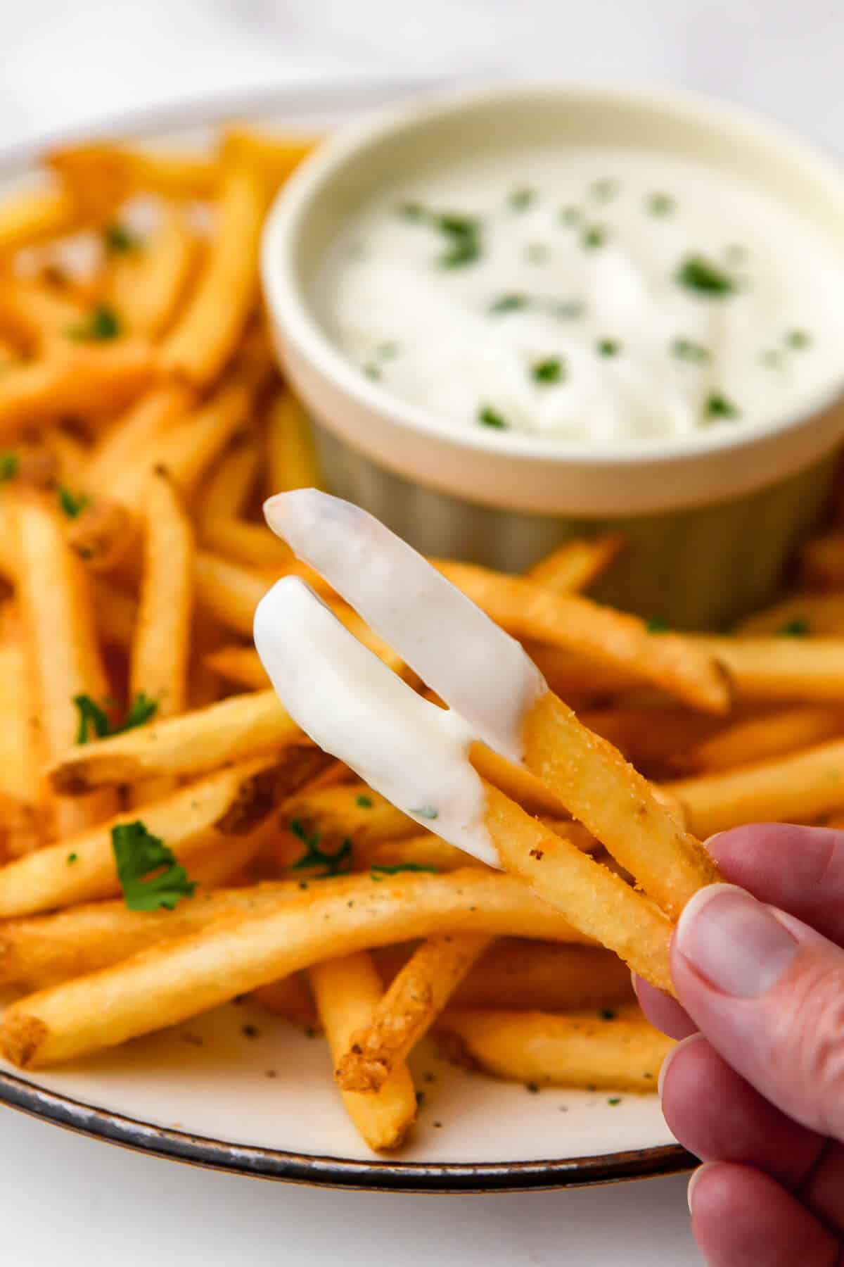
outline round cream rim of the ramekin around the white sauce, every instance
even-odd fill
[[[397,106],[387,106],[340,128],[297,167],[276,195],[262,234],[261,280],[271,315],[282,331],[283,341],[295,348],[311,372],[339,390],[358,409],[376,414],[380,424],[394,427],[396,435],[411,433],[415,438],[428,438],[467,455],[572,464],[600,471],[606,468],[626,469],[645,464],[661,466],[696,457],[742,454],[755,445],[769,445],[779,436],[810,431],[814,422],[844,400],[844,367],[829,386],[807,395],[798,412],[786,412],[773,422],[736,430],[704,430],[695,436],[669,436],[647,445],[623,438],[601,449],[590,449],[576,441],[523,432],[448,430],[438,424],[434,414],[425,408],[409,404],[366,379],[334,345],[314,313],[297,276],[301,233],[325,185],[330,185],[340,170],[366,156],[367,150],[380,141],[400,136],[420,124],[435,123],[440,118],[476,108],[506,106],[514,100],[533,100],[537,108],[542,108],[542,101],[550,98],[555,101],[577,99],[587,104],[610,104],[619,110],[635,105],[652,111],[668,111],[692,125],[720,127],[726,134],[728,146],[735,139],[760,144],[771,153],[778,148],[783,160],[791,157],[792,162],[800,163],[819,188],[828,186],[830,195],[840,200],[844,208],[844,167],[835,160],[793,129],[747,106],[702,92],[638,85],[530,81],[495,87],[452,89],[433,98],[430,94],[414,96]]]

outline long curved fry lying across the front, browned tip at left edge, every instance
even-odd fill
[[[326,879],[280,911],[218,922],[19,1000],[3,1016],[0,1047],[14,1064],[43,1068],[173,1025],[324,959],[444,933],[581,940],[512,875],[467,868],[382,882]]]

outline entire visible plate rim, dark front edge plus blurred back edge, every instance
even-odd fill
[[[377,108],[390,95],[435,91],[453,77],[351,79],[330,84],[248,87],[181,101],[111,111],[70,128],[48,129],[0,147],[0,177],[24,175],[47,148],[91,137],[144,137],[290,110],[302,115],[348,104]],[[51,1125],[134,1152],[205,1169],[319,1187],[382,1192],[483,1194],[585,1187],[690,1171],[697,1159],[681,1144],[655,1144],[592,1157],[514,1162],[401,1162],[353,1159],[234,1144],[139,1121],[85,1104],[0,1069],[0,1104]]]

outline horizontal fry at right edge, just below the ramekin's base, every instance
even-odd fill
[[[739,699],[844,702],[844,637],[701,637]]]

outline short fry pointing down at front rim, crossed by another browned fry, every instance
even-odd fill
[[[337,1063],[352,1035],[369,1022],[381,1000],[381,978],[366,950],[314,964],[309,972],[316,1010]],[[407,1066],[396,1060],[375,1095],[343,1090],[343,1104],[376,1152],[399,1148],[416,1120],[416,1092]]]

